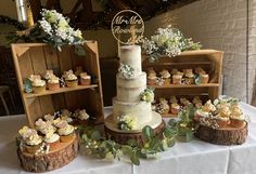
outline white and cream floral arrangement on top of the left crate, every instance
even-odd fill
[[[41,11],[41,19],[31,28],[18,31],[17,35],[9,37],[9,42],[23,41],[43,41],[52,44],[59,51],[62,45],[78,45],[85,42],[81,31],[69,26],[69,19],[64,17],[55,10]]]

